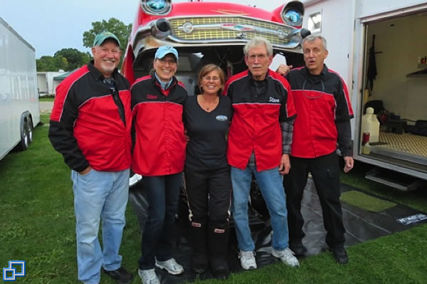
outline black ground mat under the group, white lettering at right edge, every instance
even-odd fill
[[[352,186],[342,184],[342,192],[349,190],[359,190]],[[364,192],[365,194],[368,194]],[[379,198],[378,196],[375,196]],[[342,203],[344,226],[347,230],[345,246],[353,246],[381,236],[387,236],[391,233],[404,231],[413,226],[427,222],[427,214],[408,208],[401,204],[396,204],[391,209],[373,213],[364,211],[356,206]],[[417,215],[419,214],[419,215]],[[278,260],[270,255],[271,247],[271,227],[266,222],[262,222],[260,214],[252,213],[251,229],[256,246],[256,261],[258,268]],[[326,231],[323,227],[322,209],[317,197],[315,186],[311,179],[307,183],[304,197],[302,200],[302,215],[305,219],[303,230],[306,233],[303,244],[307,247],[307,257],[314,256],[325,250]],[[426,219],[422,220],[424,217]],[[258,218],[258,221],[255,219]],[[181,218],[185,220],[186,218]],[[398,221],[398,219],[401,219]],[[255,220],[255,221],[254,221]],[[404,223],[408,223],[405,225]],[[174,258],[178,263],[184,266],[185,272],[182,275],[169,275],[164,270],[157,269],[157,275],[161,283],[184,283],[196,279],[214,278],[209,270],[205,273],[196,275],[191,270],[191,245],[187,241],[188,223],[178,221],[176,223],[176,247],[174,248]],[[231,272],[237,273],[243,271],[238,260],[238,248],[234,228],[230,229],[230,241],[228,250],[228,265]]]

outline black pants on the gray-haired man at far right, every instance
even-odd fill
[[[339,164],[335,152],[314,159],[290,157],[290,172],[283,179],[288,206],[289,243],[301,243],[304,219],[301,214],[302,193],[311,172],[322,206],[323,223],[327,231],[326,243],[330,248],[344,246],[344,223],[339,201]]]

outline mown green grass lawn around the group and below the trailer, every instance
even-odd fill
[[[48,122],[48,115],[42,115]],[[0,264],[26,261],[26,277],[16,283],[78,283],[75,218],[70,171],[53,150],[46,125],[36,127],[26,152],[0,161]],[[427,191],[401,193],[363,179],[367,166],[357,164],[344,182],[391,201],[427,212]],[[122,242],[123,265],[136,274],[139,227],[128,206]],[[233,274],[226,281],[197,283],[427,283],[427,224],[348,249],[348,265],[334,263],[330,253],[306,258],[300,268],[282,264]],[[102,275],[102,283],[114,283]],[[141,283],[135,277],[132,283]]]

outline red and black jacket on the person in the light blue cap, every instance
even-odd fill
[[[146,177],[182,172],[186,147],[184,84],[173,78],[163,90],[153,73],[136,80],[131,93],[135,128],[132,171]]]

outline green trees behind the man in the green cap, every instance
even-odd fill
[[[83,46],[91,48],[93,40],[98,33],[111,31],[119,38],[121,48],[125,48],[131,29],[132,24],[125,25],[125,23],[115,18],[110,18],[108,21],[95,21],[92,23],[92,28],[83,33]],[[125,52],[122,52],[120,61],[122,61],[124,54]],[[40,59],[36,59],[36,67],[38,72],[72,71],[87,64],[91,58],[92,55],[88,52],[79,51],[76,48],[62,48],[56,51],[53,56],[41,56]]]

